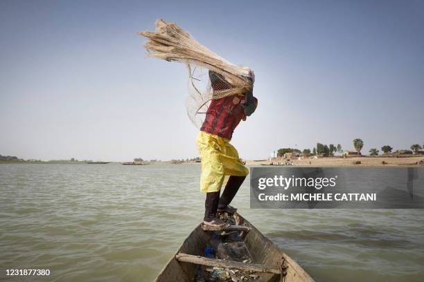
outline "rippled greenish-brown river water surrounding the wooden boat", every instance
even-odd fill
[[[1,281],[153,281],[200,223],[198,164],[0,164]],[[424,281],[424,210],[249,209],[317,281]],[[49,276],[6,276],[6,269]]]

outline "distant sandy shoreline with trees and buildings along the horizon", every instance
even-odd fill
[[[281,148],[272,151],[271,157],[263,160],[243,160],[247,165],[294,165],[294,166],[424,166],[424,142],[421,144],[412,144],[409,149],[392,151],[390,145],[384,145],[380,150],[372,148],[369,155],[362,155],[361,150],[364,147],[364,141],[360,138],[353,140],[354,150],[343,150],[340,144],[321,144],[311,149]],[[338,153],[338,155],[336,155]],[[31,163],[31,164],[126,164],[126,165],[145,165],[145,164],[198,164],[199,157],[191,159],[178,160],[143,160],[143,158],[134,158],[132,162],[103,162],[93,160],[24,160],[16,156],[1,156],[0,163]]]

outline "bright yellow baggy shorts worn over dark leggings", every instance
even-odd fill
[[[197,135],[197,150],[202,159],[200,191],[204,193],[220,191],[225,176],[249,174],[249,169],[227,138],[200,131]]]

